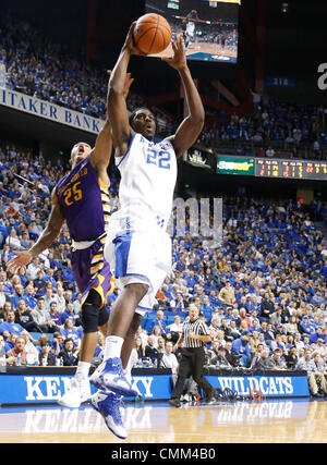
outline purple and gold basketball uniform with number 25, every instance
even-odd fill
[[[108,188],[101,183],[88,157],[82,160],[56,186],[56,194],[71,234],[76,242],[95,241],[87,248],[73,250],[72,269],[82,303],[94,289],[101,297],[114,289],[109,264],[104,258],[104,244],[110,216]]]

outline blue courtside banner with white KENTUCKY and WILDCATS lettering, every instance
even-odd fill
[[[22,370],[23,371],[23,370]],[[56,403],[69,389],[70,375],[56,372],[56,368],[31,374],[0,374],[0,404]],[[143,372],[142,372],[143,371]],[[171,394],[171,375],[164,370],[137,369],[132,386],[145,401],[167,400]],[[48,372],[48,374],[47,374]],[[289,372],[288,372],[289,374]],[[310,395],[306,375],[300,376],[207,376],[208,381],[223,390],[229,388],[239,395],[251,397],[253,390],[265,397],[305,397]],[[90,387],[90,393],[96,390]]]

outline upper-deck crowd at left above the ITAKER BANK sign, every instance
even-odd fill
[[[5,86],[75,111],[104,119],[108,76],[102,68],[89,65],[85,56],[73,56],[69,46],[56,44],[29,22],[10,13],[0,19],[0,63],[5,66]],[[0,84],[1,85],[1,84]],[[131,93],[128,108],[145,106]],[[171,134],[173,122],[157,108],[159,134]]]

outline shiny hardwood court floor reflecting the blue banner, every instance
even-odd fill
[[[279,400],[219,403],[215,406],[167,403],[126,404],[129,431],[120,440],[89,405],[0,407],[1,443],[325,443],[327,401]]]

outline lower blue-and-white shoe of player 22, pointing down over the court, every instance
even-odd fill
[[[122,423],[120,395],[113,392],[97,391],[90,397],[93,407],[104,417],[107,428],[120,439],[126,439],[128,432]]]

